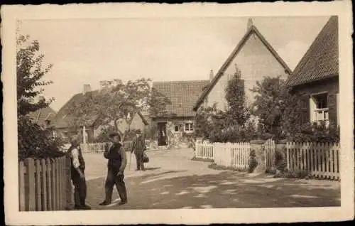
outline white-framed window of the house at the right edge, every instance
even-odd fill
[[[329,123],[329,109],[328,109],[328,94],[322,93],[312,95],[310,102],[310,117],[311,122],[325,121]]]

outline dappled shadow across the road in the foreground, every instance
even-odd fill
[[[97,195],[93,195],[97,192],[102,193],[102,178],[89,181],[88,202],[94,209],[340,206],[340,188],[334,186],[336,183],[312,185],[312,181],[266,176],[250,177],[245,173],[231,171],[175,178],[169,177],[167,175],[169,173],[174,171],[127,178],[129,203],[110,208],[97,206],[100,200]]]

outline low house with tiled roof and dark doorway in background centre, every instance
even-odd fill
[[[163,148],[188,146],[193,131],[195,102],[209,80],[153,82],[153,90],[168,99],[163,116],[152,117],[156,145]]]

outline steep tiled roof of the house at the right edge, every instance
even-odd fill
[[[338,17],[332,16],[288,78],[294,87],[339,75]]]

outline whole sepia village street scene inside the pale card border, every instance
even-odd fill
[[[12,205],[342,207],[339,17],[16,18]]]

